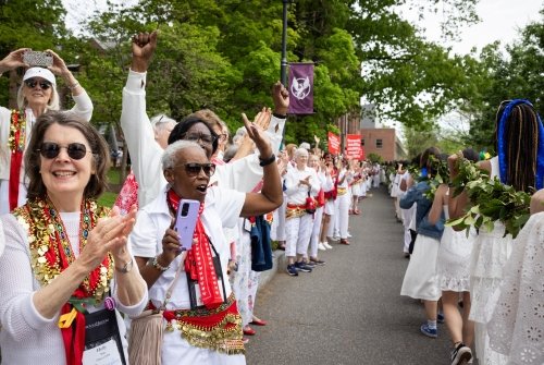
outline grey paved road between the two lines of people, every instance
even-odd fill
[[[449,364],[449,336],[419,332],[423,308],[400,296],[408,265],[403,227],[385,190],[372,190],[350,219],[350,246],[333,244],[326,266],[289,277],[279,272],[257,296],[265,327],[247,346],[249,365]]]

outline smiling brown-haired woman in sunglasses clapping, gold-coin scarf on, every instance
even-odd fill
[[[96,203],[109,155],[74,112],[49,111],[34,126],[25,156],[28,200],[0,218],[5,364],[128,363],[119,312],[140,314],[147,290],[127,247],[136,208],[121,216]]]

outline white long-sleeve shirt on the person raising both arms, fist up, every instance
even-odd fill
[[[121,127],[131,154],[132,168],[138,182],[138,204],[144,207],[151,203],[166,185],[162,173],[163,150],[154,142],[154,133],[146,112],[147,73],[129,71],[123,88],[123,110]],[[272,118],[268,135],[276,154],[282,142],[285,119]],[[251,192],[262,178],[262,168],[256,154],[218,166],[210,184],[219,181],[222,188]]]

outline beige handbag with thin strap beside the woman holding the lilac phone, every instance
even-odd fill
[[[131,333],[128,336],[128,363],[133,365],[161,365],[162,313],[172,295],[183,265],[175,273],[164,297],[164,303],[159,309],[146,309],[139,316],[131,317]]]

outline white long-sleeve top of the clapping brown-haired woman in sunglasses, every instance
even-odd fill
[[[61,214],[66,233],[71,238],[79,236],[79,214]],[[66,364],[64,343],[59,329],[58,314],[53,318],[45,318],[34,306],[33,296],[41,287],[36,280],[30,267],[28,231],[17,222],[12,215],[0,218],[5,234],[5,251],[0,257],[0,344],[2,346],[2,363],[17,365]],[[71,240],[72,241],[72,240]],[[72,242],[78,247],[79,242]],[[77,254],[78,251],[74,251]],[[138,267],[134,265],[133,270]],[[145,282],[143,281],[143,285]],[[118,309],[136,316],[147,304],[147,291],[141,301],[134,306],[124,306],[118,297],[115,284],[110,283]],[[103,307],[103,304],[102,304]],[[97,309],[99,309],[98,307]],[[90,311],[90,308],[89,308]],[[121,341],[127,357],[125,325],[116,312]]]

